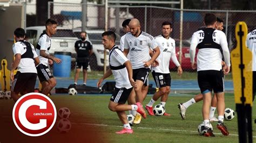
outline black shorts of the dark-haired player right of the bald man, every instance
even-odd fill
[[[163,88],[166,86],[171,87],[171,75],[152,72],[154,82],[156,82],[157,88]]]

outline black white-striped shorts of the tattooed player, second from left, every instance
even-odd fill
[[[50,80],[50,78],[53,77],[51,70],[49,69],[48,66],[43,65],[42,63],[40,63],[37,67],[37,75],[39,78],[39,81],[42,83],[44,81],[48,81]]]

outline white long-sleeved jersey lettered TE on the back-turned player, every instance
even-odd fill
[[[223,49],[223,54],[227,66],[230,64],[230,52],[227,46],[227,38],[224,32],[220,30],[214,30],[213,28],[205,28],[205,31],[212,31],[212,35],[209,35],[209,44],[206,46],[212,46],[211,48],[199,48],[197,54],[197,71],[200,70],[220,70],[221,66],[221,52],[220,48]],[[208,32],[207,32],[208,33]],[[194,32],[191,39],[190,45],[190,59],[194,62],[194,57],[196,54],[196,47],[203,42],[205,38],[204,30],[199,30]],[[219,49],[217,48],[219,47]]]

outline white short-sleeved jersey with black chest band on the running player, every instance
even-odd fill
[[[128,59],[117,46],[114,46],[110,50],[109,64],[112,67],[122,66],[126,61],[128,61]],[[126,88],[126,89],[132,88],[132,85],[130,83],[129,76],[128,76],[128,71],[125,66],[124,68],[116,69],[116,70],[113,70],[111,68],[111,71],[114,76],[114,80],[116,81],[117,88]]]

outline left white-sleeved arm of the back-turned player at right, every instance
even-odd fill
[[[196,56],[196,48],[198,45],[196,33],[192,35],[191,44],[190,44],[190,62],[192,69],[197,68],[197,63],[194,61],[194,57]]]

